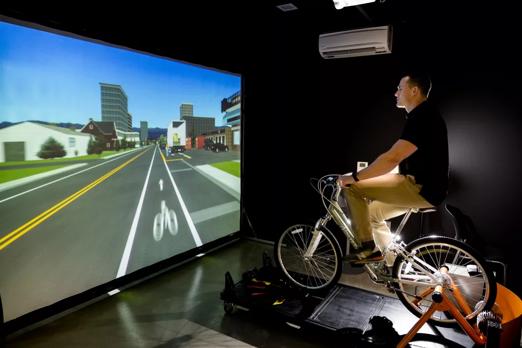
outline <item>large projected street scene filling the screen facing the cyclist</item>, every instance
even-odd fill
[[[241,77],[0,22],[4,320],[239,230]]]

